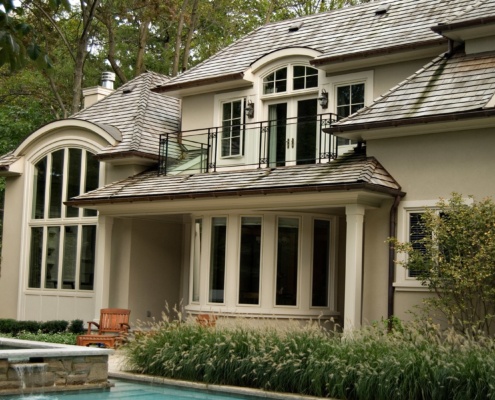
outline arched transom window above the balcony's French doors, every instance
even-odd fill
[[[283,67],[263,78],[263,94],[285,93],[316,87],[318,87],[318,70],[305,65]]]

